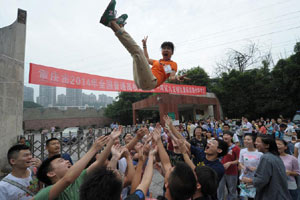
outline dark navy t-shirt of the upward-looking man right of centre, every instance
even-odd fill
[[[223,164],[216,159],[214,161],[207,160],[203,149],[191,145],[191,153],[195,156],[194,163],[196,166],[208,166],[218,174],[218,180],[222,179],[225,169]]]

